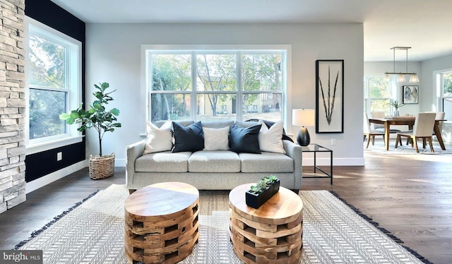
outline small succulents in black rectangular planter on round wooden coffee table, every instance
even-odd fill
[[[280,190],[280,179],[277,176],[265,176],[245,193],[246,205],[259,208]]]

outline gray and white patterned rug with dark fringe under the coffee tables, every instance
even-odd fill
[[[198,244],[182,263],[242,263],[229,234],[229,191],[200,192]],[[32,234],[17,249],[44,251],[44,263],[127,263],[123,185],[109,186]],[[300,191],[302,263],[422,263],[328,191]],[[18,245],[19,246],[19,245]]]

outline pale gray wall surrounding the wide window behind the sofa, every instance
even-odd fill
[[[116,88],[111,107],[121,114],[122,128],[104,138],[106,154],[115,152],[117,166],[124,166],[126,145],[145,132],[145,109],[141,100],[142,44],[290,44],[292,83],[289,105],[315,109],[316,59],[344,59],[344,133],[316,134],[311,142],[333,149],[335,165],[363,165],[362,76],[363,26],[350,24],[87,24],[87,98],[92,102],[93,84],[109,82]],[[290,111],[289,111],[290,112]],[[288,133],[297,133],[286,123]],[[97,152],[94,131],[88,133],[88,152]],[[337,145],[331,145],[331,138]],[[307,157],[307,155],[304,155]],[[320,157],[321,163],[329,164]],[[308,161],[309,163],[309,161]]]

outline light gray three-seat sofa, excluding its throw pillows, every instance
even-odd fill
[[[187,126],[192,121],[181,121]],[[240,126],[256,122],[236,121]],[[155,125],[160,127],[163,122]],[[234,121],[206,121],[203,127],[222,128]],[[302,188],[302,148],[283,140],[286,154],[275,152],[236,153],[230,150],[196,152],[163,151],[143,155],[146,140],[126,147],[126,187],[133,191],[164,181],[182,181],[199,190],[231,190],[253,183],[263,176],[275,175],[280,185],[292,190]]]

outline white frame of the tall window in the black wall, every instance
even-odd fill
[[[25,16],[25,153],[30,155],[53,148],[71,145],[81,142],[82,133],[77,131],[79,126],[67,125],[66,133],[58,136],[50,136],[46,138],[36,138],[30,140],[30,77],[28,73],[28,65],[30,65],[29,53],[29,33],[34,32],[40,37],[52,40],[63,47],[66,47],[66,112],[76,109],[82,102],[82,43],[78,40],[65,35],[64,33],[54,30],[37,20]],[[52,90],[52,89],[47,89]]]

